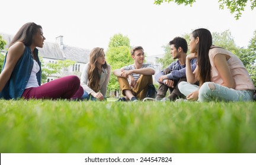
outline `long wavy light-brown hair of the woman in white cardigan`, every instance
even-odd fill
[[[88,72],[88,86],[94,90],[95,92],[100,90],[100,74],[98,73],[97,68],[97,60],[98,57],[100,57],[101,54],[104,54],[103,48],[94,48],[90,52],[90,59],[89,59],[89,72]],[[107,62],[102,65],[102,67],[105,69],[107,68]]]

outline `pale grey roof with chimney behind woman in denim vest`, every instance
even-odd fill
[[[4,47],[5,51],[7,51],[8,45],[14,36],[2,32],[0,32],[0,35],[7,41],[7,45]],[[56,38],[55,43],[44,42],[43,48],[37,48],[39,49],[39,56],[54,60],[72,60],[81,63],[89,62],[89,53],[91,50],[64,45],[62,41],[63,36],[59,36]]]

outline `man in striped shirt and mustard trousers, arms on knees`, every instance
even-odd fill
[[[124,97],[118,101],[138,101],[146,97],[148,85],[153,84],[152,75],[155,74],[153,65],[144,63],[144,50],[134,47],[131,51],[134,63],[114,70]]]

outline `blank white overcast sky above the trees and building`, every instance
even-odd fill
[[[2,2],[4,1],[4,2]],[[218,0],[197,0],[192,7],[153,0],[2,0],[0,32],[14,35],[26,22],[43,27],[47,42],[63,35],[74,47],[108,48],[114,34],[141,45],[151,55],[163,54],[163,45],[197,28],[211,32],[231,31],[236,45],[247,47],[256,30],[256,9],[249,7],[237,21],[228,9],[220,10]]]

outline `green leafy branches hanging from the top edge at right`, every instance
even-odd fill
[[[185,6],[192,6],[196,0],[155,0],[154,4],[161,5],[163,2],[175,2],[175,4],[178,5],[184,4]],[[251,10],[253,10],[256,6],[256,0],[218,0],[218,2],[219,8],[224,9],[224,6],[226,6],[231,14],[235,14],[235,19],[239,19],[241,17],[242,11],[244,11],[244,8],[248,2],[251,2]]]

